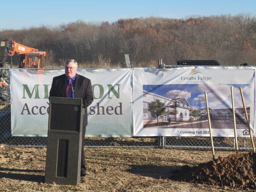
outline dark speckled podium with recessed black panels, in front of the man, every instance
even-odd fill
[[[82,99],[50,98],[45,183],[80,181],[83,115]]]

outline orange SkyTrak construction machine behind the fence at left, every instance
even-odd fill
[[[19,68],[44,68],[45,51],[38,51],[9,39],[1,41],[0,67],[6,66],[7,57],[13,55],[19,56]]]

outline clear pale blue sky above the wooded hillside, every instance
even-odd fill
[[[255,0],[25,0],[1,1],[0,30],[41,25],[55,27],[82,19],[85,22],[116,22],[122,18],[186,18],[251,13]]]

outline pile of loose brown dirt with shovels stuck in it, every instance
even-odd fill
[[[256,153],[233,154],[195,167],[174,170],[173,180],[256,189]]]

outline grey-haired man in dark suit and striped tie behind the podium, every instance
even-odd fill
[[[81,176],[86,176],[85,158],[84,158],[84,136],[87,125],[87,107],[93,101],[91,80],[77,74],[77,62],[69,59],[65,62],[65,74],[54,77],[49,97],[72,97],[70,83],[74,87],[74,97],[83,99],[83,108],[85,114],[83,116],[82,131],[82,153],[81,153]]]

